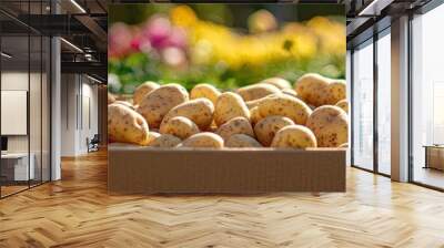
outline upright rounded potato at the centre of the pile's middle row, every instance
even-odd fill
[[[242,116],[250,120],[250,112],[242,97],[232,92],[222,93],[214,107],[214,122],[221,126],[225,122]]]

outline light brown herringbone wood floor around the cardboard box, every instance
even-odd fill
[[[0,200],[0,247],[444,247],[444,194],[353,168],[345,194],[110,196],[105,164]]]

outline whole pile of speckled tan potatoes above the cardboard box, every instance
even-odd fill
[[[109,96],[108,136],[152,147],[346,147],[345,86],[315,73],[294,87],[271,78],[235,92],[147,82],[132,103]]]

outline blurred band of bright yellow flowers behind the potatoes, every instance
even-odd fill
[[[306,24],[292,22],[281,30],[241,34],[225,25],[196,20],[188,27],[194,63],[261,65],[273,60],[306,60],[321,53],[345,52],[345,27],[326,18]]]

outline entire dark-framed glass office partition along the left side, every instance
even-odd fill
[[[43,14],[48,2],[9,1],[0,8]],[[50,179],[50,39],[0,13],[0,197]]]

